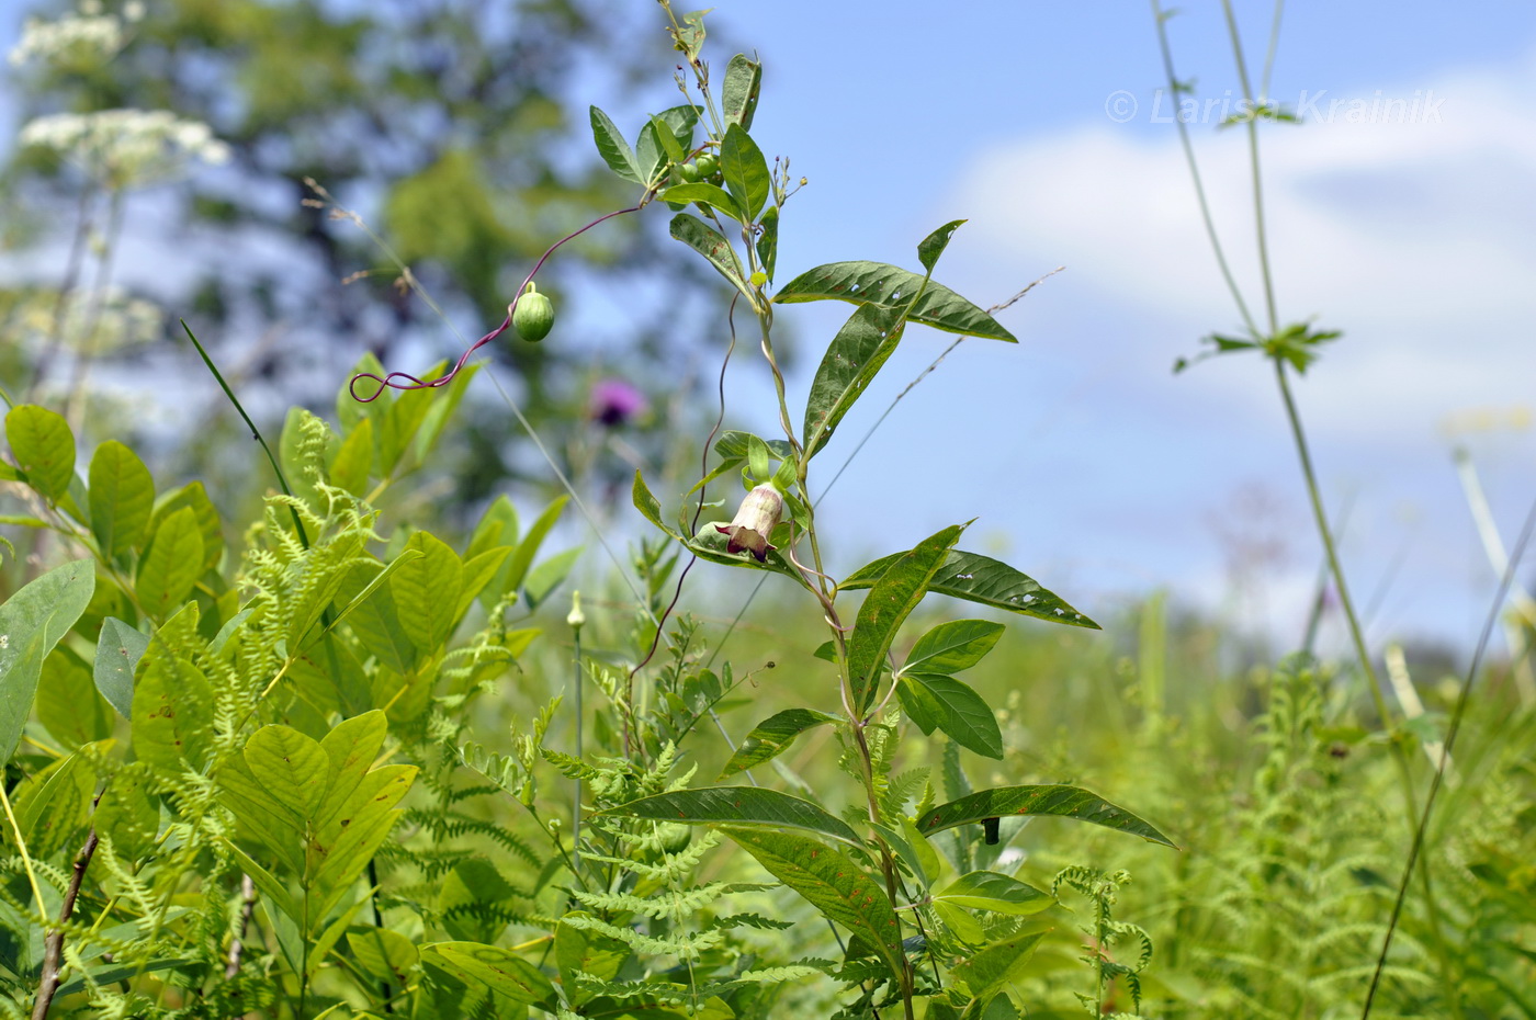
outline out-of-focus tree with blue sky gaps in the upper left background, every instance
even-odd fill
[[[364,350],[390,369],[421,373],[456,356],[461,341],[396,286],[398,272],[356,224],[304,204],[313,198],[306,180],[359,210],[473,336],[501,321],[551,241],[633,201],[591,151],[585,100],[636,103],[636,121],[642,104],[677,101],[665,89],[636,91],[642,75],[657,81],[668,51],[651,5],[628,0],[88,5],[74,15],[58,5],[34,8],[55,22],[112,22],[118,37],[94,54],[55,46],[48,58],[23,63],[23,123],[58,112],[169,111],[210,126],[227,144],[227,163],[200,174],[195,186],[124,201],[120,181],[81,178],[78,160],[17,149],[6,171],[5,241],[38,255],[60,252],[61,243],[69,250],[68,258],[40,257],[25,280],[12,278],[12,309],[25,304],[18,295],[61,287],[55,313],[35,329],[15,315],[6,326],[23,343],[0,372],[8,387],[32,392],[57,392],[68,366],[103,350],[60,353],[69,295],[109,278],[166,306],[170,326],[186,316],[267,421],[289,404],[329,404]],[[576,86],[584,101],[571,106]],[[617,361],[642,384],[667,379],[676,389],[690,349],[697,353],[679,341],[697,335],[688,323],[717,312],[719,290],[656,226],[621,218],[564,247],[541,275],[541,290],[551,293],[567,329],[556,326],[545,344],[511,341],[492,352],[515,366],[524,407],[541,427],[558,429],[564,418],[567,427],[591,429],[585,390],[594,363]],[[112,252],[115,266],[95,264]],[[604,290],[622,298],[605,298],[604,313],[579,313],[598,273]],[[166,338],[178,349],[174,364],[195,364],[180,329],[160,336],[161,361],[155,350],[140,352],[121,366],[129,378],[146,364],[158,366],[151,379],[164,378]],[[170,373],[186,379],[180,369]],[[192,392],[207,395],[207,413],[226,416],[210,384],[197,381]],[[175,429],[183,439],[186,410],[183,401]],[[482,495],[530,464],[508,449],[513,430],[499,402],[472,401],[464,424],[475,455],[458,465],[461,495]],[[556,449],[570,442],[558,439]],[[204,459],[212,442],[204,439]]]

